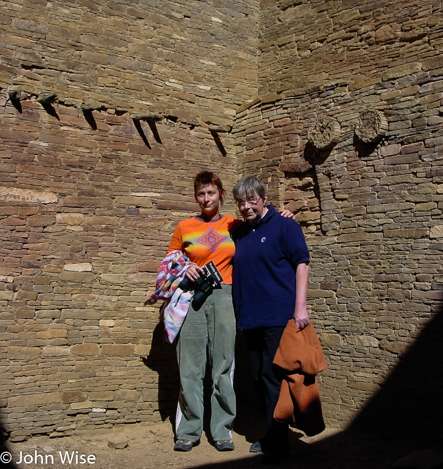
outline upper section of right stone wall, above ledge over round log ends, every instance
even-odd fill
[[[441,0],[260,5],[259,96],[343,78],[354,89],[371,87],[392,67],[436,60],[442,66]]]

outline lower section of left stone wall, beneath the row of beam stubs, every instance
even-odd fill
[[[159,419],[175,399],[159,402],[159,369],[165,379],[172,365],[141,361],[159,315],[143,302],[176,220],[195,211],[192,175],[215,166],[232,188],[234,158],[180,121],[157,122],[161,144],[145,125],[149,148],[127,115],[94,113],[93,131],[79,110],[57,106],[59,122],[22,106],[18,118],[6,106],[0,124],[6,430],[18,439]],[[4,137],[8,122],[26,126],[23,140]]]

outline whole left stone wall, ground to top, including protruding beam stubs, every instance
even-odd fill
[[[165,418],[176,360],[144,300],[194,175],[237,179],[258,2],[1,8],[2,426],[18,441]]]

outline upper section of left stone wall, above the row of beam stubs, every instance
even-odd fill
[[[258,1],[3,1],[0,86],[229,125],[256,94],[257,16]]]

